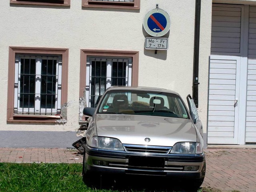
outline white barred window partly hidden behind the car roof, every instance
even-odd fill
[[[87,106],[95,107],[110,86],[132,85],[132,58],[88,58]]]

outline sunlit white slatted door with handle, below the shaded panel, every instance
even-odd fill
[[[208,143],[238,144],[240,56],[210,57]]]

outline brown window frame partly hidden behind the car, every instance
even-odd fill
[[[132,86],[138,86],[138,77],[139,77],[139,73],[138,73],[139,72],[139,52],[138,51],[81,49],[79,97],[83,96],[84,87],[86,86],[86,61],[88,56],[132,58]]]

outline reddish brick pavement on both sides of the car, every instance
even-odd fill
[[[63,148],[0,148],[0,162],[82,163],[76,150]],[[223,192],[256,192],[256,149],[208,148],[202,186]]]

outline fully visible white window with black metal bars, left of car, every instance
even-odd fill
[[[61,71],[61,56],[16,56],[14,113],[60,114]]]

